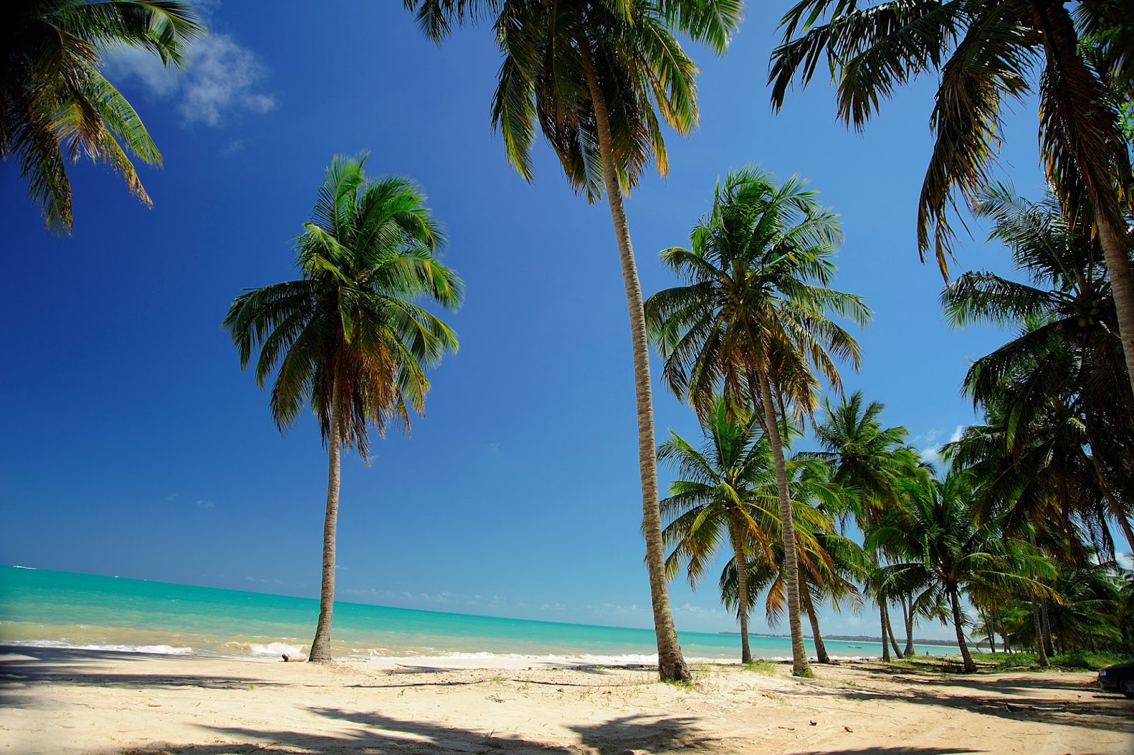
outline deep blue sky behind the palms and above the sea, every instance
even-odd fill
[[[674,283],[658,251],[686,243],[718,176],[762,163],[810,178],[844,223],[836,286],[874,311],[846,387],[886,402],[886,422],[931,450],[972,421],[962,376],[1001,337],[950,330],[941,277],[917,261],[936,82],[899,90],[863,134],[835,121],[826,82],[773,116],[764,80],[787,3],[748,5],[725,58],[692,49],[701,128],[669,138],[669,177],[646,178],[628,202],[643,290]],[[398,2],[312,8],[210,3],[212,35],[180,74],[111,61],[164,155],[142,169],[152,209],[79,163],[74,234],[51,236],[15,168],[0,167],[0,561],[318,594],[318,429],[304,417],[277,432],[220,321],[243,288],[296,275],[289,239],[324,167],[366,150],[371,175],[422,184],[468,295],[449,320],[460,353],[433,373],[413,436],[376,441],[370,467],[346,459],[338,596],[649,626],[627,315],[604,203],[573,195],[542,145],[534,184],[508,167],[489,122],[499,56],[488,28],[438,48]],[[1001,170],[1034,197],[1034,109],[1016,110]],[[1006,270],[1004,249],[972,228],[954,269]],[[659,440],[697,435],[660,387],[655,412]],[[675,583],[679,629],[733,628],[713,593]],[[823,630],[874,623],[871,611],[828,610]]]

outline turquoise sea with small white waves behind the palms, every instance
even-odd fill
[[[0,567],[0,643],[168,654],[278,655],[304,652],[319,601],[236,589]],[[333,652],[341,655],[582,656],[657,660],[653,631],[336,603]],[[687,659],[735,659],[737,635],[680,633]],[[870,642],[826,641],[835,658],[878,656]],[[789,658],[788,639],[752,637],[752,652]],[[812,653],[814,648],[807,643]],[[957,652],[920,645],[917,652]]]

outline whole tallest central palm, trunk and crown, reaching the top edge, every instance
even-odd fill
[[[739,23],[739,0],[404,0],[423,32],[440,41],[456,24],[491,19],[503,54],[492,122],[508,161],[532,180],[536,124],[567,181],[587,201],[607,196],[615,226],[634,353],[642,531],[658,667],[691,678],[666,589],[661,514],[642,288],[623,194],[653,160],[667,170],[665,120],[679,134],[696,125],[696,67],[675,33],[721,53]],[[660,116],[660,118],[659,118]]]

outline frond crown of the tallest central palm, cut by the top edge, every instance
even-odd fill
[[[653,159],[666,172],[661,121],[685,134],[697,120],[696,66],[674,31],[718,52],[739,23],[741,0],[404,0],[422,29],[491,19],[503,53],[492,122],[508,161],[531,180],[536,124],[572,187],[603,195],[595,97],[610,121],[618,183],[634,187]],[[660,116],[660,118],[659,118]]]

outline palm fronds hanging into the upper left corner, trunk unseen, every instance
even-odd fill
[[[136,48],[181,62],[204,27],[174,0],[8,0],[0,8],[0,159],[16,160],[48,228],[70,231],[67,160],[86,154],[150,197],[130,155],[161,153],[126,97],[99,70],[108,49]]]

